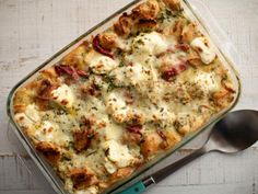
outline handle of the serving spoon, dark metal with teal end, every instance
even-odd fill
[[[143,193],[152,184],[161,182],[166,176],[171,175],[172,173],[174,173],[175,171],[177,171],[181,167],[190,163],[192,160],[201,157],[206,152],[207,152],[207,150],[204,149],[204,147],[202,147],[202,148],[194,151],[189,156],[176,161],[175,163],[172,163],[172,164],[159,170],[157,172],[151,174],[150,176],[146,176],[145,179],[137,182],[136,184],[131,185],[130,187],[126,189],[125,191],[122,191],[119,194],[140,194],[140,193]]]

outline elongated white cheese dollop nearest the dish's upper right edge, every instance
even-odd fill
[[[208,41],[204,37],[197,37],[191,42],[191,47],[195,48],[204,64],[211,64],[215,59],[214,50],[208,46]]]

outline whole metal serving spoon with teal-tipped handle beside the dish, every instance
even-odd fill
[[[143,193],[152,184],[161,182],[169,174],[204,153],[211,151],[236,153],[247,149],[257,140],[258,111],[243,110],[228,113],[213,126],[208,140],[200,149],[137,182],[120,194]]]

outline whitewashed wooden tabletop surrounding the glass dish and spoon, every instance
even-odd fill
[[[200,1],[241,50],[236,68],[242,76],[243,95],[236,109],[258,110],[258,0]],[[0,194],[54,193],[40,173],[31,174],[13,155],[7,138],[5,115],[11,88],[54,53],[128,2],[130,0],[0,0]],[[181,150],[160,167],[188,152]],[[258,194],[257,166],[257,146],[237,156],[211,153],[148,193]]]

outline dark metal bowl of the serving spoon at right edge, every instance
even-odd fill
[[[236,111],[219,121],[204,146],[209,151],[235,153],[258,140],[258,112]]]

